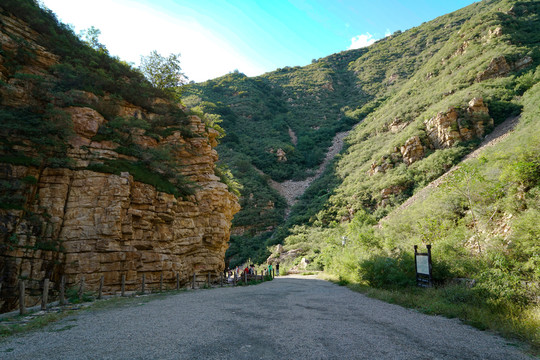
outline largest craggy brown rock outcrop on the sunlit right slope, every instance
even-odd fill
[[[444,149],[457,141],[483,137],[493,127],[493,119],[482,98],[474,98],[465,111],[451,107],[427,120],[425,125],[431,146]]]

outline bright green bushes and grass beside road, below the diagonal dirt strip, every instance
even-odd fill
[[[331,228],[296,227],[285,248],[308,249],[303,254],[308,270],[324,270],[340,284],[460,318],[538,351],[540,84],[521,102],[514,132],[460,164],[423,201],[390,214],[379,226],[363,212]],[[432,245],[435,287],[418,289],[413,245],[426,244]]]

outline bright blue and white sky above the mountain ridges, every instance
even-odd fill
[[[181,53],[190,80],[260,75],[367,46],[473,0],[42,0],[76,32],[95,26],[112,55]]]

